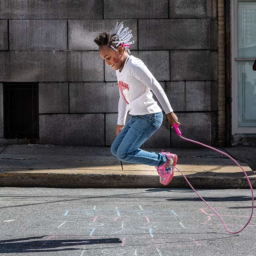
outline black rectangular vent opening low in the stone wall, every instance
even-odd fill
[[[5,139],[38,138],[38,84],[3,83]]]

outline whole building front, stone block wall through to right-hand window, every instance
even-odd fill
[[[254,19],[255,3],[0,0],[0,143],[111,145],[119,91],[93,40],[116,21],[132,29],[131,54],[164,88],[185,137],[215,146],[253,143],[255,94],[245,84],[255,88],[248,70],[256,30],[239,20],[249,13]],[[144,146],[196,145],[181,141],[165,116]]]

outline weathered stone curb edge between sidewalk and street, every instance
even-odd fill
[[[187,177],[195,189],[249,189],[246,177],[237,175]],[[249,179],[256,189],[256,175]],[[72,173],[0,173],[0,187],[48,188],[190,188],[183,176],[174,176],[168,186],[159,183],[157,175],[140,174],[72,174]]]

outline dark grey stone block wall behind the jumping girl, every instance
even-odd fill
[[[131,54],[164,88],[183,136],[216,145],[217,8],[217,0],[0,0],[0,142],[8,143],[3,83],[38,82],[38,143],[111,145],[116,74],[93,40],[123,21],[136,42]],[[164,115],[162,127],[144,146],[196,145],[177,137]]]

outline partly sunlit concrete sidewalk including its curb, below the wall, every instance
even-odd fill
[[[160,152],[162,148],[143,148]],[[218,148],[231,153],[256,188],[256,148]],[[195,188],[249,188],[244,172],[228,157],[208,148],[164,148],[178,156],[177,168]],[[251,162],[252,161],[252,162]],[[121,163],[109,147],[61,145],[0,146],[0,186],[55,188],[188,188],[176,170],[168,186],[159,183],[154,166]]]

